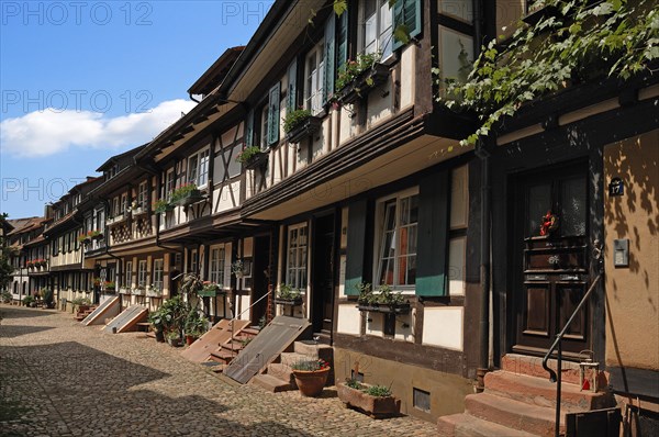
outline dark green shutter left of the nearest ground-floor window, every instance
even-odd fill
[[[346,254],[346,281],[347,295],[358,295],[355,285],[362,281],[364,254],[366,245],[366,200],[353,202],[348,209],[348,249]]]

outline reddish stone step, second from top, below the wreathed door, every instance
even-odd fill
[[[485,392],[500,396],[527,402],[532,405],[556,407],[556,383],[548,378],[536,378],[515,374],[504,370],[485,374]],[[579,385],[561,384],[561,410],[576,413],[615,406],[612,394],[580,391]]]

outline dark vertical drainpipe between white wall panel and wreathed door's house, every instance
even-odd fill
[[[480,354],[477,370],[477,391],[484,390],[485,373],[490,368],[490,152],[485,149],[485,138],[479,138],[476,156],[481,161],[481,262],[480,262]]]

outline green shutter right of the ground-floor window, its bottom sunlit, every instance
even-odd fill
[[[424,177],[418,187],[416,295],[448,294],[448,221],[450,173]]]

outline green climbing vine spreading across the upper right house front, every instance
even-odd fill
[[[461,145],[473,145],[532,100],[579,80],[627,80],[652,71],[659,57],[659,8],[655,1],[546,0],[543,18],[521,23],[505,44],[483,46],[466,81],[440,78],[437,100],[470,110],[479,128]],[[550,13],[551,12],[551,13]]]

